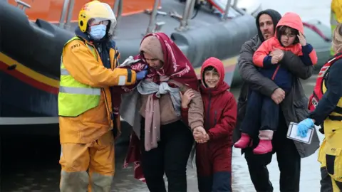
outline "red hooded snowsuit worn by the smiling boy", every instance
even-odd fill
[[[214,67],[219,73],[219,82],[214,88],[204,85],[204,68]],[[232,132],[237,122],[237,102],[224,82],[224,67],[221,60],[209,58],[201,69],[200,92],[204,103],[204,128],[209,141],[196,146],[198,176],[212,176],[217,172],[232,171]],[[182,109],[182,118],[187,121],[187,110]],[[226,181],[222,181],[226,182]]]

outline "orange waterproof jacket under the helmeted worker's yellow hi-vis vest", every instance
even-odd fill
[[[63,48],[62,61],[66,70],[75,80],[91,87],[101,88],[100,102],[97,107],[80,114],[78,117],[59,117],[61,144],[87,144],[113,129],[109,87],[123,84],[133,85],[136,80],[135,71],[117,68],[120,55],[115,46],[110,47],[111,69],[108,69],[103,66],[98,51],[95,49],[97,60],[86,43],[93,46],[85,39],[67,43]],[[123,78],[120,78],[123,75],[125,82],[123,82]]]

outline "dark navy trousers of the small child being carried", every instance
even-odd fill
[[[252,136],[259,130],[276,131],[279,125],[279,108],[279,105],[270,97],[252,91],[247,100],[246,114],[240,127],[241,132]]]

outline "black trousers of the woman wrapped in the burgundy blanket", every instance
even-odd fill
[[[194,143],[190,129],[181,121],[162,125],[158,147],[145,151],[145,121],[142,120],[141,124],[142,171],[148,189],[151,192],[166,192],[165,173],[168,192],[187,191],[187,160]]]

